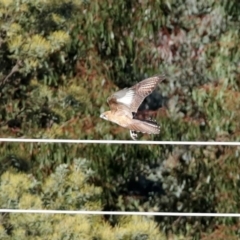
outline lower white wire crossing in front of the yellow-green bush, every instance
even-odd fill
[[[70,211],[70,210],[34,210],[0,209],[0,213],[36,213],[36,214],[83,214],[83,215],[135,215],[135,216],[176,216],[176,217],[238,217],[239,213],[180,213],[180,212],[113,212],[113,211]]]

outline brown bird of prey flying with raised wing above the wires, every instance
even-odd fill
[[[165,76],[154,76],[130,88],[124,88],[115,92],[107,99],[110,111],[102,113],[100,117],[129,129],[133,140],[136,140],[137,132],[158,134],[160,127],[155,121],[137,119],[135,118],[135,114],[143,100],[164,79]]]

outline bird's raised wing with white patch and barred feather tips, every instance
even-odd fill
[[[108,98],[108,104],[111,110],[128,110],[130,112],[137,112],[139,106],[157,87],[157,84],[165,79],[165,76],[155,76],[147,78],[131,88],[125,88],[118,92],[115,92]]]

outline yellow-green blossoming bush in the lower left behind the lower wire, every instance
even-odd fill
[[[0,205],[20,209],[102,210],[99,200],[102,190],[87,182],[90,173],[85,159],[58,166],[42,184],[32,175],[7,171],[0,179]],[[160,239],[160,232],[152,219],[144,217],[120,217],[118,226],[111,227],[102,216],[5,214],[0,236],[2,239],[141,239],[141,236]]]

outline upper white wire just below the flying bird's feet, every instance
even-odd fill
[[[147,144],[147,145],[198,145],[198,146],[240,146],[240,142],[198,142],[198,141],[129,141],[129,140],[85,140],[85,139],[28,139],[0,138],[0,142],[25,143],[78,143],[78,144]]]

